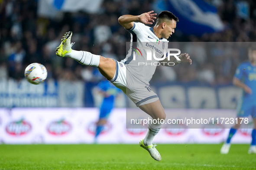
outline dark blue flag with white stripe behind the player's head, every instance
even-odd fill
[[[157,0],[154,8],[158,14],[163,10],[172,12],[179,19],[177,29],[188,35],[203,35],[224,29],[217,9],[204,0]]]

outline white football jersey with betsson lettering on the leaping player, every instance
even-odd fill
[[[155,51],[155,57],[160,59],[167,53],[169,41],[165,38],[158,38],[153,31],[153,27],[148,27],[141,22],[133,23],[133,28],[127,30],[131,33],[131,43],[123,62],[126,63],[127,70],[133,76],[149,85],[149,81],[156,71],[156,66],[160,63],[153,55],[151,55],[150,60],[150,53],[147,57],[147,51],[150,49],[151,54]],[[147,50],[143,47],[147,47]],[[126,79],[130,78],[126,77]]]

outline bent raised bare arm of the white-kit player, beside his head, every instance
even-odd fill
[[[149,11],[148,13],[143,13],[139,16],[124,15],[120,16],[118,22],[126,29],[131,29],[133,27],[133,22],[142,22],[143,24],[153,24],[156,19],[156,13],[154,11]]]

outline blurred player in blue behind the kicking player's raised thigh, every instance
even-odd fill
[[[121,90],[119,88],[116,88],[109,81],[104,80],[97,85],[97,91],[104,96],[104,99],[100,106],[100,116],[99,120],[97,121],[94,143],[97,143],[97,137],[104,129],[110,112],[114,107],[115,98],[118,94],[120,94]]]

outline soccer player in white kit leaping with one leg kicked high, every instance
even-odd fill
[[[169,41],[167,39],[174,33],[178,18],[169,11],[162,11],[159,13],[156,25],[150,28],[145,24],[151,25],[154,22],[153,19],[156,19],[156,13],[153,12],[150,11],[139,16],[120,16],[118,21],[131,33],[131,42],[137,42],[136,48],[140,45],[141,47],[152,48],[155,51],[156,58],[162,58],[168,48]],[[153,64],[151,66],[146,65],[146,50],[140,50],[142,56],[136,57],[136,60],[134,60],[135,56],[133,56],[130,48],[126,59],[118,62],[87,51],[72,50],[71,36],[71,31],[63,36],[61,44],[56,48],[57,56],[72,58],[82,65],[96,66],[105,78],[117,88],[120,88],[141,110],[153,119],[165,120],[166,115],[162,104],[156,93],[149,88],[149,81],[156,70],[156,66]],[[180,62],[192,63],[188,54],[181,54],[179,59],[177,60],[171,56],[169,60],[166,57],[159,63],[163,66],[173,66]],[[151,61],[152,63],[158,62],[155,58]],[[140,64],[138,65],[138,63]],[[156,161],[160,161],[162,158],[156,150],[156,145],[152,145],[152,141],[161,127],[160,122],[150,122],[146,137],[139,142],[139,145],[149,151],[151,157]]]

